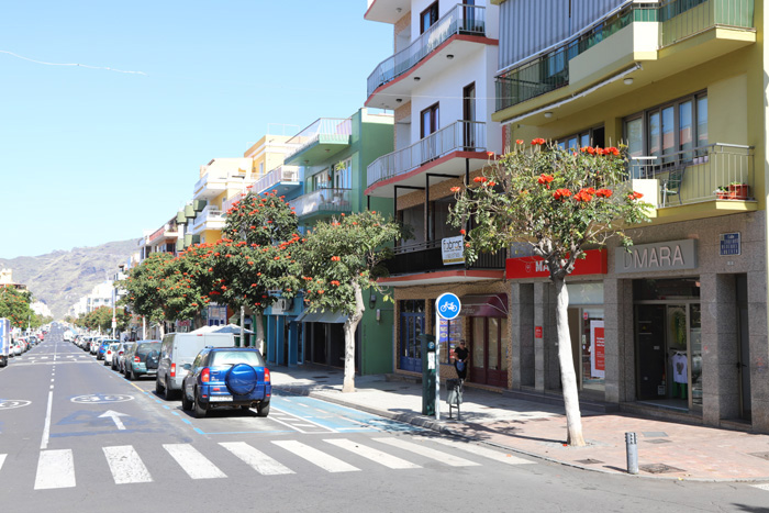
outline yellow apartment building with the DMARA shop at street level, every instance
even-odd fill
[[[624,142],[655,207],[631,253],[568,281],[581,398],[769,431],[764,2],[494,3],[505,144]],[[553,288],[524,263],[508,261],[510,386],[558,391]]]

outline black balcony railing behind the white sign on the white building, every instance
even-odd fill
[[[401,245],[395,255],[384,261],[390,275],[430,272],[444,269],[504,269],[506,252],[482,253],[472,264],[444,265],[441,241]]]

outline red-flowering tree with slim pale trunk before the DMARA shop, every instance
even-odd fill
[[[615,147],[562,149],[532,141],[516,141],[513,150],[475,178],[472,189],[454,188],[457,204],[449,221],[462,226],[466,257],[493,252],[514,243],[531,245],[544,258],[556,290],[558,360],[567,419],[567,443],[584,445],[577,378],[567,319],[566,277],[584,249],[603,246],[618,236],[633,244],[624,227],[647,221],[643,194],[627,188],[627,159]],[[465,226],[471,221],[472,228]]]

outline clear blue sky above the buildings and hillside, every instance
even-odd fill
[[[138,238],[199,166],[268,130],[354,113],[392,53],[366,0],[8,0],[0,258]],[[280,133],[277,125],[270,132]]]

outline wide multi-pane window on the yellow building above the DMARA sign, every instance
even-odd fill
[[[695,93],[624,120],[631,158],[657,157],[654,165],[689,161],[707,146],[707,94]]]

